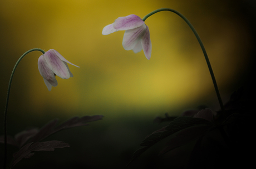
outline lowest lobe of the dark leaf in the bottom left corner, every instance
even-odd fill
[[[22,158],[31,158],[34,155],[34,151],[54,151],[55,148],[69,147],[65,142],[62,141],[46,141],[46,142],[30,142],[24,145],[18,152],[13,154],[13,161],[11,163],[11,168],[14,167]]]

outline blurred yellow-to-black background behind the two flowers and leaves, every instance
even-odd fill
[[[80,66],[70,65],[74,77],[57,77],[58,86],[48,91],[37,67],[41,53],[32,52],[23,58],[11,88],[9,135],[26,127],[41,127],[55,118],[61,122],[72,116],[105,116],[90,126],[52,136],[72,143],[71,147],[37,152],[17,168],[43,168],[46,161],[59,167],[119,168],[126,165],[146,135],[164,125],[153,123],[156,116],[164,116],[165,112],[178,116],[199,105],[219,109],[200,46],[176,14],[165,11],[146,19],[152,42],[150,60],[143,52],[135,54],[122,47],[124,31],[101,34],[105,25],[118,17],[136,14],[143,18],[158,8],[173,8],[194,25],[208,52],[224,102],[253,78],[253,0],[0,1],[2,112],[13,66],[27,50],[55,49]],[[156,155],[149,151],[133,167],[143,168],[149,159],[146,157]]]

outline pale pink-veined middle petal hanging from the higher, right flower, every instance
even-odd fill
[[[125,48],[125,50],[134,49],[141,36],[145,33],[145,30],[145,24],[135,29],[126,30],[124,38],[122,39],[122,46]]]

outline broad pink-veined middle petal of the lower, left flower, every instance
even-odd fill
[[[47,65],[57,76],[62,79],[70,78],[70,73],[67,66],[53,50],[48,50],[45,54],[43,54],[43,58],[45,58]]]

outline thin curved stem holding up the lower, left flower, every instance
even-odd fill
[[[10,90],[11,90],[12,78],[13,78],[14,72],[15,72],[19,62],[21,62],[21,59],[24,58],[24,56],[27,55],[28,53],[33,52],[35,50],[38,50],[38,51],[42,52],[43,54],[45,54],[45,51],[43,51],[42,49],[38,49],[38,48],[30,49],[27,52],[25,52],[21,56],[21,58],[18,59],[17,63],[15,64],[15,66],[12,70],[11,78],[9,80],[7,97],[6,97],[6,108],[4,110],[4,162],[3,162],[3,168],[6,168],[6,162],[7,162],[7,109],[8,109],[8,103],[9,103],[9,95],[10,95]]]

